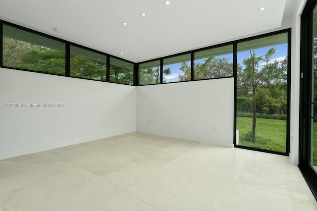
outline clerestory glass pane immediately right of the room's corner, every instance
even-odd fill
[[[139,66],[139,84],[160,83],[160,60],[142,63]]]

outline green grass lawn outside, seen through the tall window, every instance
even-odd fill
[[[257,118],[255,143],[244,140],[245,135],[252,131],[252,118],[237,117],[237,130],[239,130],[239,145],[241,146],[286,152],[286,120]]]

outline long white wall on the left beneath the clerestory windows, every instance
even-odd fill
[[[0,159],[134,132],[135,119],[136,87],[0,68]]]

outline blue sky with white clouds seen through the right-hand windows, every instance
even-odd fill
[[[287,44],[281,44],[281,45],[275,45],[275,46],[271,46],[275,49],[275,54],[272,56],[272,59],[270,60],[271,62],[277,60],[277,61],[282,61],[285,56],[287,55]],[[256,54],[257,55],[264,55],[271,47],[265,47],[265,48],[260,48],[260,49],[256,49]],[[216,58],[229,58],[229,61],[232,61],[232,54],[226,54],[226,55],[219,55],[219,56],[215,56]],[[250,57],[250,52],[249,51],[244,51],[244,52],[238,52],[238,63],[240,63],[242,65],[242,61],[245,58]],[[204,62],[204,59],[199,59],[196,60],[197,62]],[[188,61],[188,65],[190,65],[190,61]],[[264,63],[263,63],[264,65]],[[181,63],[176,63],[176,64],[169,64],[169,65],[165,65],[164,68],[169,67],[171,70],[171,74],[170,75],[163,75],[164,78],[166,78],[166,82],[176,82],[179,81],[179,75],[184,74],[183,71],[179,70],[181,66]]]

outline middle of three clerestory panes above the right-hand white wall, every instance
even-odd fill
[[[163,83],[190,81],[191,54],[163,59]]]

